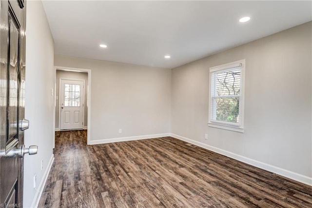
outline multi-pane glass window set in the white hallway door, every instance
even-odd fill
[[[79,84],[64,84],[64,106],[80,107]]]

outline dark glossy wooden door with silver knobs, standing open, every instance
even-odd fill
[[[0,207],[22,207],[25,111],[24,0],[0,1]]]

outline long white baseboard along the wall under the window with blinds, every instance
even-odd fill
[[[308,176],[301,175],[301,174],[292,172],[290,170],[286,170],[286,169],[283,169],[280,167],[272,166],[272,165],[269,165],[266,163],[262,163],[260,161],[256,161],[256,160],[253,160],[253,159],[250,159],[250,158],[247,158],[247,157],[244,157],[244,156],[241,156],[241,155],[238,155],[238,154],[235,154],[235,153],[232,153],[232,152],[229,152],[229,151],[226,151],[226,150],[214,147],[214,146],[206,145],[204,143],[197,142],[195,140],[192,140],[192,139],[189,139],[186,137],[182,137],[182,136],[179,136],[176,134],[171,133],[170,136],[174,137],[176,139],[182,140],[184,142],[188,142],[188,143],[191,143],[193,145],[200,146],[200,147],[203,147],[205,149],[214,151],[214,152],[219,153],[221,155],[225,155],[227,157],[233,158],[233,159],[238,160],[240,162],[243,162],[243,163],[246,163],[246,164],[249,164],[252,166],[256,166],[256,167],[259,167],[261,169],[273,172],[277,175],[281,175],[281,176],[284,176],[286,178],[290,178],[292,180],[295,180],[295,181],[301,182],[303,184],[307,184],[307,185],[312,186],[312,178],[310,178]]]

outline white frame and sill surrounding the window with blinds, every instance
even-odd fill
[[[240,69],[240,96],[239,96],[239,123],[234,124],[232,122],[217,121],[213,119],[212,115],[212,96],[213,90],[215,90],[215,81],[213,73],[218,71],[227,70],[230,68],[241,66]],[[222,128],[237,132],[244,132],[244,112],[245,112],[245,59],[236,62],[226,63],[209,68],[210,76],[210,90],[209,90],[209,111],[208,111],[208,126]]]

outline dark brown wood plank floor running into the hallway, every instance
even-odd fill
[[[56,134],[39,208],[312,208],[312,187],[171,137],[86,145]]]

